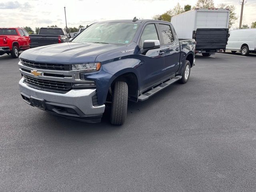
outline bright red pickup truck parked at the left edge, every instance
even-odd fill
[[[30,38],[22,28],[0,28],[0,55],[11,54],[18,58],[19,51],[29,49]]]

